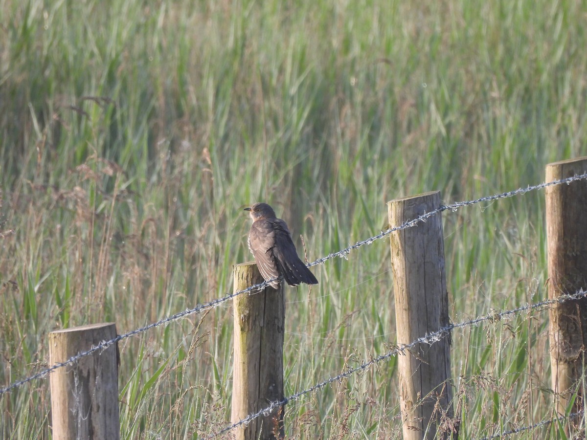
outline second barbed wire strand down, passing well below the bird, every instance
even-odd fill
[[[413,347],[417,346],[418,344],[432,345],[432,344],[440,341],[441,339],[443,339],[443,337],[448,336],[450,334],[450,332],[454,329],[463,329],[464,327],[477,326],[478,324],[480,324],[484,321],[497,322],[497,321],[501,321],[503,319],[508,319],[509,317],[511,317],[515,314],[518,314],[520,312],[525,312],[526,310],[543,309],[544,307],[549,306],[551,304],[564,303],[566,301],[578,300],[578,299],[582,299],[585,297],[587,297],[587,290],[581,289],[572,295],[561,295],[561,296],[558,296],[553,299],[547,299],[547,300],[544,300],[544,301],[541,301],[538,303],[534,303],[534,304],[524,304],[522,306],[516,307],[515,309],[503,310],[501,312],[498,312],[496,310],[492,310],[490,313],[486,314],[485,316],[481,316],[481,317],[477,317],[475,319],[463,321],[458,324],[450,324],[446,327],[441,327],[439,330],[434,331],[434,333],[426,334],[426,335],[414,340],[413,342],[411,342],[409,344],[402,344],[396,348],[393,348],[392,350],[389,350],[386,354],[381,354],[379,356],[371,358],[369,361],[365,361],[364,363],[358,365],[357,367],[349,368],[348,370],[343,371],[343,373],[340,373],[336,376],[330,377],[330,378],[326,379],[325,381],[322,381],[316,385],[312,385],[312,387],[310,387],[306,390],[296,392],[296,394],[292,394],[291,396],[286,397],[280,401],[272,402],[268,407],[261,409],[261,411],[249,414],[244,419],[241,419],[237,422],[234,422],[233,424],[228,425],[225,428],[222,428],[220,431],[212,433],[211,435],[205,437],[205,439],[215,438],[218,435],[222,435],[225,432],[231,431],[234,428],[238,428],[241,425],[246,426],[249,423],[251,423],[254,419],[261,417],[261,415],[265,415],[265,416],[269,415],[269,414],[271,414],[272,411],[274,411],[274,409],[279,408],[282,405],[287,404],[288,402],[298,400],[299,398],[301,398],[302,396],[304,396],[306,394],[310,394],[314,391],[318,391],[321,388],[324,388],[326,385],[331,384],[333,382],[338,382],[338,381],[341,381],[345,378],[348,378],[351,375],[358,373],[359,371],[365,371],[370,366],[375,365],[383,360],[389,360],[390,358],[396,356],[397,354],[400,354],[400,353],[404,354],[404,352],[406,350],[409,350],[410,348],[413,348]]]

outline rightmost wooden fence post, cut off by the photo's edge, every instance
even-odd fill
[[[587,157],[546,165],[546,181],[587,171]],[[587,289],[587,182],[546,187],[548,297],[554,299]],[[553,304],[549,310],[552,389],[556,411],[565,414],[581,384],[587,344],[587,299]],[[583,391],[572,412],[583,407]]]

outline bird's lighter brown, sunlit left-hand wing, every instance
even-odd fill
[[[251,249],[259,272],[265,280],[279,277],[273,253],[274,248],[275,231],[271,222],[268,220],[254,222],[249,232],[249,249]],[[277,288],[278,281],[272,282],[271,286]]]

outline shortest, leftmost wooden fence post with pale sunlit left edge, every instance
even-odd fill
[[[116,337],[116,324],[102,323],[49,333],[49,364]],[[53,438],[120,438],[117,346],[80,358],[49,376]]]

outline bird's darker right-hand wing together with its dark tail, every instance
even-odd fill
[[[298,257],[288,226],[282,219],[272,221],[275,232],[275,246],[273,255],[286,282],[290,286],[297,286],[299,283],[317,284],[318,280]]]

